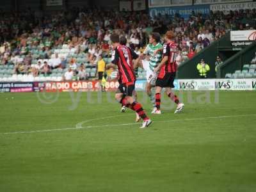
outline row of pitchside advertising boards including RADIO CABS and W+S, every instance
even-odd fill
[[[147,81],[138,80],[136,91],[144,91]],[[256,79],[175,79],[173,90],[256,90]],[[106,91],[115,92],[118,81],[106,82]],[[100,81],[0,83],[0,92],[98,92]]]

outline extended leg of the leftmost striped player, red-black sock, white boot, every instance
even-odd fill
[[[137,102],[136,100],[134,100],[134,98],[132,97],[132,92],[134,92],[134,88],[135,88],[134,84],[125,86],[126,97],[124,100],[125,100],[125,103],[129,104],[129,108],[131,108],[133,111],[138,113],[140,118],[143,119],[143,124],[142,124],[141,128],[145,128],[145,127],[148,127],[148,125],[150,125],[152,122],[146,115],[141,104],[139,102]]]

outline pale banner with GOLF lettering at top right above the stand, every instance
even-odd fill
[[[253,10],[256,8],[256,2],[230,3],[230,4],[211,4],[210,10],[213,12],[220,11],[228,14],[229,11]]]

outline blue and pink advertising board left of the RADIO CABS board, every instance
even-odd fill
[[[33,92],[33,83],[31,82],[1,82],[0,83],[0,92]]]

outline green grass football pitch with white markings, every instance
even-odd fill
[[[0,93],[0,191],[256,191],[256,92],[177,94],[139,129],[113,93]]]

